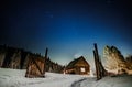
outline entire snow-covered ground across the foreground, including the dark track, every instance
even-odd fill
[[[0,68],[0,87],[132,87],[132,76],[96,77],[46,73],[45,78],[25,78],[25,70]]]

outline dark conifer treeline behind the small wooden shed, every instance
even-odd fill
[[[41,54],[24,51],[23,48],[11,47],[7,45],[0,45],[0,67],[2,68],[14,68],[14,69],[26,69],[29,57],[42,57]],[[46,72],[61,73],[63,66],[46,58],[45,63]]]

